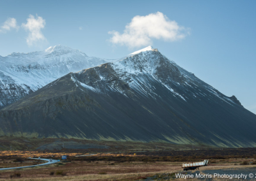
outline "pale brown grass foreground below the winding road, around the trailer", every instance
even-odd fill
[[[89,159],[89,157],[86,157]],[[4,160],[5,161],[5,160]],[[223,170],[228,168],[253,168],[255,159],[214,159],[209,166],[200,171]],[[248,165],[241,165],[246,161]],[[168,175],[168,180],[175,178],[174,173],[184,173],[182,162],[118,162],[118,161],[68,161],[20,170],[0,171],[0,180],[145,180]],[[184,178],[182,178],[184,180]],[[151,180],[151,179],[150,179]],[[176,178],[175,178],[176,180]]]

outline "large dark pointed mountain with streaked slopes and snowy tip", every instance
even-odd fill
[[[256,115],[147,47],[0,110],[0,135],[255,147]]]

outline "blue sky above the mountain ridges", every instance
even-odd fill
[[[255,9],[256,1],[249,0],[0,1],[0,55],[65,45],[114,59],[150,44],[256,113]],[[140,25],[150,14],[156,21],[143,32]],[[172,32],[151,32],[154,22]],[[140,42],[130,41],[137,36]]]

